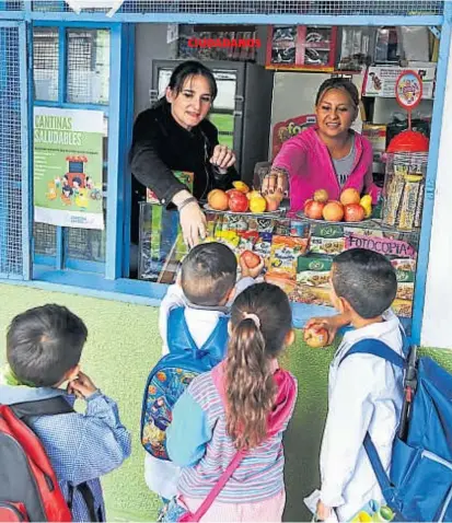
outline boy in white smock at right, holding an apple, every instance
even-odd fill
[[[404,357],[404,335],[390,310],[397,281],[384,256],[361,248],[346,251],[335,258],[331,280],[332,301],[339,315],[314,318],[308,326],[326,327],[331,340],[341,326],[349,324],[355,329],[345,334],[329,367],[316,515],[321,521],[348,521],[370,500],[384,501],[363,440],[369,431],[389,473],[403,404],[403,373],[371,355],[355,353],[341,360],[354,344],[369,338]]]

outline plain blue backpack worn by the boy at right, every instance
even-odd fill
[[[452,521],[452,375],[431,358],[407,360],[376,339],[358,341],[344,359],[368,353],[404,369],[404,405],[387,477],[369,432],[364,449],[397,521]],[[344,359],[341,361],[344,361]]]

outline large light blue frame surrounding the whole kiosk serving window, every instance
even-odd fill
[[[279,3],[278,3],[279,2]],[[48,244],[48,252],[35,255],[35,265],[33,271],[33,281],[27,284],[40,288],[49,288],[63,292],[80,292],[89,295],[114,298],[118,300],[131,301],[136,303],[158,304],[159,300],[165,292],[165,287],[155,283],[149,283],[125,278],[128,275],[129,266],[129,231],[127,217],[130,216],[130,178],[127,173],[127,151],[131,138],[131,125],[134,115],[134,24],[144,22],[164,22],[164,23],[202,23],[217,24],[219,13],[211,8],[206,10],[198,9],[198,3],[193,5],[196,12],[184,13],[181,10],[173,11],[157,9],[149,12],[139,12],[134,8],[134,2],[126,1],[123,9],[114,15],[113,19],[106,18],[104,12],[83,12],[76,14],[71,12],[61,1],[46,2],[49,8],[50,3],[55,9],[37,10],[32,9],[30,2],[14,9],[2,9],[0,2],[0,20],[24,20],[33,25],[33,27],[55,27],[59,37],[59,71],[56,82],[56,91],[58,98],[55,101],[36,101],[35,104],[44,104],[49,106],[70,107],[70,108],[102,108],[106,115],[115,115],[108,118],[108,154],[106,168],[108,173],[108,183],[106,187],[106,248],[105,262],[80,260],[68,256],[65,252],[65,231],[57,231],[55,236]],[[8,3],[8,2],[7,2]],[[20,2],[14,2],[19,5]],[[36,2],[35,2],[36,3]],[[39,3],[39,2],[37,2]],[[43,7],[42,2],[42,7]],[[149,2],[154,5],[159,2]],[[160,2],[161,3],[161,2]],[[160,5],[159,3],[159,5]],[[174,2],[169,2],[174,3]],[[184,2],[182,2],[184,3]],[[210,2],[206,2],[206,4]],[[217,5],[218,2],[211,2]],[[240,2],[236,2],[239,4]],[[244,4],[252,3],[244,1]],[[285,5],[292,5],[295,2],[283,2],[275,0],[268,4],[280,4],[276,11],[256,12],[242,8],[240,13],[223,13],[221,11],[222,23],[240,23],[240,24],[322,24],[322,25],[426,25],[441,26],[440,54],[437,68],[437,89],[436,101],[433,105],[433,118],[431,126],[431,147],[429,151],[429,164],[427,172],[426,198],[422,216],[422,228],[420,233],[419,263],[416,278],[415,304],[413,314],[413,332],[412,337],[415,342],[420,340],[421,319],[424,314],[425,287],[427,277],[427,264],[429,255],[432,207],[434,198],[434,185],[438,163],[438,149],[441,135],[441,119],[443,112],[443,93],[445,91],[445,80],[448,72],[449,47],[451,40],[451,23],[452,23],[452,5],[451,2],[426,2],[419,1],[419,11],[417,14],[410,14],[404,10],[404,2],[336,2],[325,1],[315,2],[320,5],[326,5],[325,13],[314,8],[313,12],[285,13]],[[410,2],[408,2],[410,3]],[[137,2],[138,4],[138,2]],[[379,9],[376,9],[376,7]],[[387,5],[386,5],[387,4]],[[433,5],[434,9],[428,12],[425,9],[427,4]],[[151,7],[152,7],[151,5]],[[335,12],[335,5],[339,7]],[[237,8],[239,9],[239,8]],[[260,9],[260,8],[259,8]],[[349,9],[345,12],[344,9]],[[210,10],[210,11],[209,11]],[[146,10],[144,10],[146,11]],[[393,12],[393,15],[384,14]],[[358,13],[358,14],[354,14]],[[424,14],[422,14],[424,13]],[[113,20],[113,21],[112,21]],[[72,30],[102,30],[107,28],[111,34],[111,86],[108,106],[103,104],[84,104],[74,103],[66,98],[67,89],[67,65],[65,60],[66,51],[66,34],[68,28]],[[28,36],[31,33],[28,32]],[[28,43],[32,39],[28,37]],[[28,58],[32,60],[32,48],[28,47]],[[31,80],[28,78],[28,80]],[[54,105],[53,105],[54,104]],[[124,125],[126,123],[126,125]],[[32,137],[32,135],[30,135]],[[31,179],[31,176],[30,176]],[[28,199],[28,206],[30,206]],[[27,243],[24,239],[24,245]],[[0,248],[1,251],[1,248]],[[23,249],[24,256],[26,248]],[[55,252],[55,254],[54,254]],[[1,254],[1,253],[0,253]],[[69,253],[70,254],[70,253]],[[26,279],[26,278],[25,278]],[[316,310],[312,306],[294,305],[295,324],[301,325],[308,316],[323,313],[324,310]]]

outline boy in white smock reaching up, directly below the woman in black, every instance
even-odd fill
[[[159,329],[163,340],[162,356],[169,353],[174,333],[181,328],[172,323],[171,312],[184,309],[184,319],[197,347],[211,337],[223,344],[228,338],[229,310],[236,295],[255,283],[264,263],[250,269],[240,259],[242,278],[237,278],[234,253],[224,244],[208,242],[192,248],[182,264],[177,282],[170,286],[160,305]],[[144,479],[150,490],[164,502],[176,496],[179,467],[172,462],[144,457]]]

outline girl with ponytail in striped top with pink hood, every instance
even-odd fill
[[[181,396],[167,450],[182,466],[178,503],[195,512],[237,450],[245,455],[200,521],[281,521],[286,502],[282,434],[295,379],[278,365],[293,342],[292,314],[278,287],[257,283],[235,300],[225,360]]]

